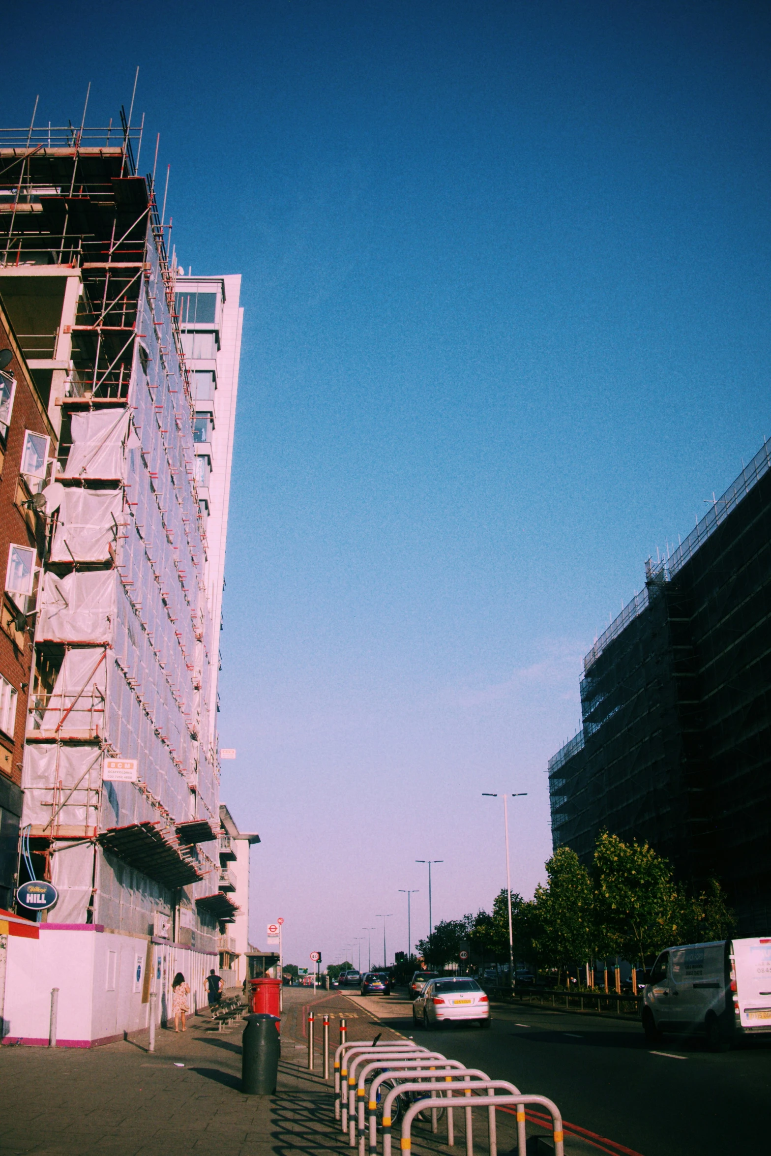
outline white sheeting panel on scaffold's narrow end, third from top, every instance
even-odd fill
[[[99,643],[112,638],[116,615],[114,570],[49,571],[43,583],[36,642]]]

